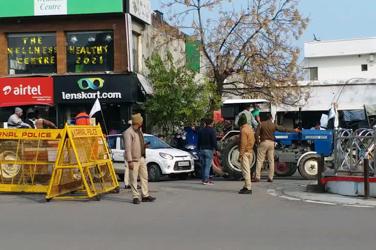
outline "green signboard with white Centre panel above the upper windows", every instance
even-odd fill
[[[0,18],[123,12],[122,0],[0,0],[0,6]]]

